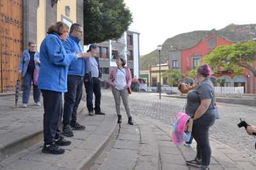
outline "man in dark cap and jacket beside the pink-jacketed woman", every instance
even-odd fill
[[[93,116],[93,94],[95,96],[95,114],[96,115],[105,115],[100,110],[100,100],[101,100],[101,92],[100,92],[100,79],[102,76],[102,71],[100,69],[99,57],[95,57],[97,55],[97,45],[92,44],[89,47],[88,52],[92,52],[92,57],[90,57],[90,67],[91,71],[86,75],[84,79],[84,86],[86,89],[86,103],[89,111],[89,115]]]

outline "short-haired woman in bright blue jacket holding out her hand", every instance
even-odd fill
[[[58,129],[61,120],[62,93],[67,92],[68,66],[72,60],[89,57],[90,53],[67,53],[63,41],[68,36],[68,25],[56,22],[47,31],[40,46],[41,67],[38,86],[44,97],[44,147],[43,153],[62,154],[59,146],[70,145]]]

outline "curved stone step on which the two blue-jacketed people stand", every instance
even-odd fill
[[[102,104],[104,105],[104,104]],[[109,138],[116,127],[116,115],[113,107],[104,107],[106,115],[95,115],[93,117],[83,115],[81,124],[86,126],[85,131],[73,131],[74,137],[67,138],[72,141],[65,148],[62,155],[51,155],[42,153],[43,143],[31,146],[27,150],[12,155],[0,162],[0,169],[89,169],[93,161],[98,157],[107,145]]]

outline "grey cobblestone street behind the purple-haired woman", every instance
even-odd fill
[[[104,96],[112,96],[110,90],[103,90]],[[104,101],[102,101],[104,102]],[[131,113],[141,117],[150,117],[161,120],[165,124],[173,124],[175,115],[182,110],[185,99],[162,97],[156,93],[136,93],[129,98]],[[216,120],[211,127],[210,137],[241,151],[246,157],[256,160],[256,138],[248,136],[244,128],[239,129],[239,118],[244,118],[248,124],[256,125],[256,107],[239,104],[217,103],[221,119]],[[122,112],[125,113],[124,107]]]

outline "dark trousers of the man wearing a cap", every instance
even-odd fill
[[[101,92],[100,92],[100,80],[99,78],[93,77],[92,81],[84,81],[84,87],[86,89],[86,104],[88,111],[93,111],[93,93],[95,96],[95,112],[100,112],[100,100],[101,100]]]

